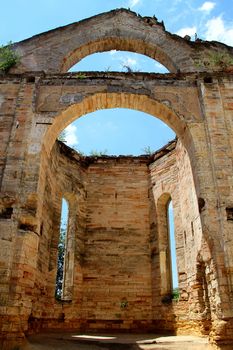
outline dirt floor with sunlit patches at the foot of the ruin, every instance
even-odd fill
[[[153,334],[85,335],[48,333],[28,338],[24,350],[214,350],[207,338]],[[233,349],[229,347],[228,349]],[[225,349],[224,349],[225,350]]]

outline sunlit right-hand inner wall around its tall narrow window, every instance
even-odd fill
[[[193,316],[191,308],[195,307],[195,304],[189,303],[188,281],[193,275],[195,276],[197,250],[193,249],[193,244],[194,240],[198,240],[198,236],[201,235],[201,226],[190,161],[182,144],[178,142],[176,148],[171,147],[167,155],[151,163],[150,173],[151,205],[154,208],[154,217],[153,215],[151,217],[154,220],[152,223],[158,230],[157,235],[153,235],[152,241],[154,319],[158,324],[166,324],[168,329],[178,330],[178,332],[186,332],[187,329],[200,332],[202,331],[201,319],[196,317],[197,315]],[[164,303],[164,296],[169,295],[172,290],[171,272],[169,272],[171,254],[167,237],[167,206],[170,200],[172,200],[174,212],[180,298],[178,302],[174,300]],[[197,224],[198,219],[199,224]],[[199,305],[197,298],[196,303]]]

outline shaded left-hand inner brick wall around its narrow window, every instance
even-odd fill
[[[29,332],[43,328],[80,327],[83,293],[81,265],[84,256],[86,221],[86,170],[73,157],[72,152],[64,151],[64,147],[62,144],[54,146],[50,166],[46,171],[38,269]],[[68,154],[69,157],[64,154]],[[71,287],[67,291],[69,297],[66,296],[63,302],[55,298],[62,198],[65,198],[69,205],[66,255],[68,256],[69,253],[70,266],[67,261],[66,267],[72,270]]]

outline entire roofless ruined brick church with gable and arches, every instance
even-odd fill
[[[0,75],[2,349],[48,329],[233,341],[233,48],[189,39],[119,9],[13,45],[19,62]],[[170,73],[67,73],[112,49]],[[120,107],[161,119],[177,140],[139,157],[84,157],[56,141],[75,119]],[[178,300],[169,298],[171,199]]]

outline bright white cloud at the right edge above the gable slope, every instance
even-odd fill
[[[227,25],[221,16],[213,17],[206,23],[205,38],[233,46],[233,23]]]

